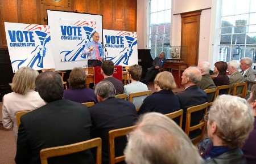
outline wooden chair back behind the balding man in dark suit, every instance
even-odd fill
[[[204,115],[207,114],[208,102],[201,105],[189,107],[187,109],[185,133],[189,136],[189,133],[195,130],[201,130],[200,135],[193,137],[192,143],[199,143],[204,138],[204,131],[206,123],[204,121]],[[201,113],[199,113],[201,111]],[[193,116],[191,116],[193,114]],[[197,118],[196,118],[197,117]],[[199,123],[191,125],[191,119],[200,119]]]

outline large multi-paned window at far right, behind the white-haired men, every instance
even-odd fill
[[[221,1],[219,61],[253,59],[256,51],[256,0]]]

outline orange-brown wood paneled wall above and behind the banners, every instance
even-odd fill
[[[47,10],[103,15],[103,28],[136,31],[137,0],[1,0],[0,48],[7,48],[4,22],[47,24]]]

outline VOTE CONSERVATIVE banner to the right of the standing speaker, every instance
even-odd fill
[[[138,64],[137,32],[103,30],[106,60],[115,65]]]

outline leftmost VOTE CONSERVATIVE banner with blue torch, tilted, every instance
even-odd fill
[[[48,25],[5,22],[5,32],[13,72],[20,67],[55,68]]]

